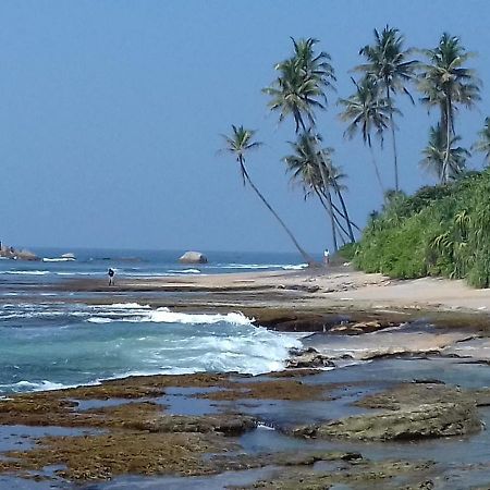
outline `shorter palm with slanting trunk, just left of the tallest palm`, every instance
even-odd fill
[[[372,150],[371,135],[376,134],[381,145],[383,142],[383,132],[390,124],[390,113],[396,111],[388,103],[387,99],[380,95],[379,86],[371,77],[365,76],[360,83],[352,78],[356,86],[356,93],[347,99],[339,99],[339,105],[344,110],[340,118],[344,122],[348,122],[344,136],[352,139],[358,132],[363,136],[363,142],[369,147],[371,161],[375,167],[376,177],[384,195],[384,186]]]

